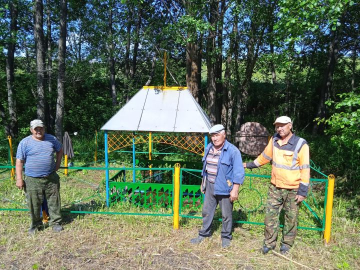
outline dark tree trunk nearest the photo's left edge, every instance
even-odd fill
[[[16,101],[14,82],[14,54],[16,44],[16,24],[17,24],[17,4],[10,3],[10,41],[7,43],[6,57],[6,86],[7,86],[7,102],[9,112],[9,134],[13,137],[17,134],[16,119]]]

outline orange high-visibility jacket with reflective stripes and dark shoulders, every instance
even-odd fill
[[[287,143],[281,145],[281,137],[275,133],[253,164],[249,164],[249,168],[251,165],[259,167],[272,160],[272,184],[276,187],[292,189],[299,188],[299,184],[302,183],[306,186],[307,193],[310,180],[309,159],[309,148],[303,138],[292,134]]]

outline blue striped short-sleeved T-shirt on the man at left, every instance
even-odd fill
[[[25,175],[43,177],[55,170],[54,152],[60,149],[61,143],[50,134],[44,134],[43,140],[29,135],[17,146],[16,158],[25,161]]]

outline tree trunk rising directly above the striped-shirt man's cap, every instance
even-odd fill
[[[44,34],[43,34],[43,5],[42,0],[35,0],[35,25],[34,37],[36,43],[36,66],[37,66],[37,118],[44,121],[45,117],[45,64],[44,64]]]

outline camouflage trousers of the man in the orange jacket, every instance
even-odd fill
[[[297,214],[299,205],[295,202],[297,189],[278,188],[270,184],[265,208],[264,245],[273,248],[279,229],[280,211],[284,211],[284,225],[281,243],[291,247],[297,232]]]

